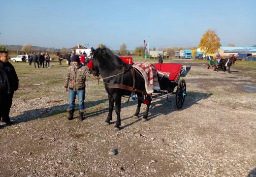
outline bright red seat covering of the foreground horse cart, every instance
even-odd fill
[[[182,65],[176,63],[155,63],[155,69],[169,75],[170,81],[176,81],[182,70]]]

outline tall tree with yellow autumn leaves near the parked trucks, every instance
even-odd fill
[[[220,37],[213,29],[208,29],[200,40],[198,47],[205,53],[205,55],[214,54],[220,48]]]

